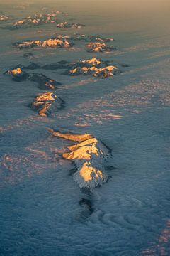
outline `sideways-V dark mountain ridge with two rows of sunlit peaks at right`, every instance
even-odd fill
[[[35,70],[35,69],[66,69],[64,71],[64,75],[93,75],[94,77],[102,77],[107,78],[109,76],[118,75],[121,73],[121,70],[115,66],[111,65],[108,61],[98,60],[97,58],[91,58],[87,60],[78,60],[74,63],[68,63],[65,60],[59,61],[58,63],[47,64],[44,66],[40,66],[36,63],[31,63],[28,66],[23,66],[23,69],[26,70]],[[55,85],[60,85],[55,80],[51,80],[47,78],[45,75],[36,74],[36,73],[26,73],[21,68],[14,69],[18,70],[17,74],[13,75],[12,70],[8,70],[7,73],[13,75],[13,80],[31,80],[34,82],[38,82],[40,88],[50,88],[55,89]],[[16,72],[16,71],[15,71]]]

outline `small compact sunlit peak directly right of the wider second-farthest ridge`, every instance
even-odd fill
[[[109,52],[114,50],[113,46],[108,46],[106,43],[99,43],[99,42],[91,42],[86,45],[86,48],[89,49],[89,52]]]

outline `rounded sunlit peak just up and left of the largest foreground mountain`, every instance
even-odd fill
[[[41,117],[47,117],[52,110],[61,110],[62,107],[64,107],[64,101],[53,92],[38,94],[32,104],[33,110],[37,110]]]

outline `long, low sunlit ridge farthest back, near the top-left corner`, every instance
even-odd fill
[[[27,28],[31,26],[38,26],[45,23],[57,23],[58,14],[60,11],[53,11],[51,14],[34,14],[33,16],[28,16],[23,20],[16,21],[10,29]]]

